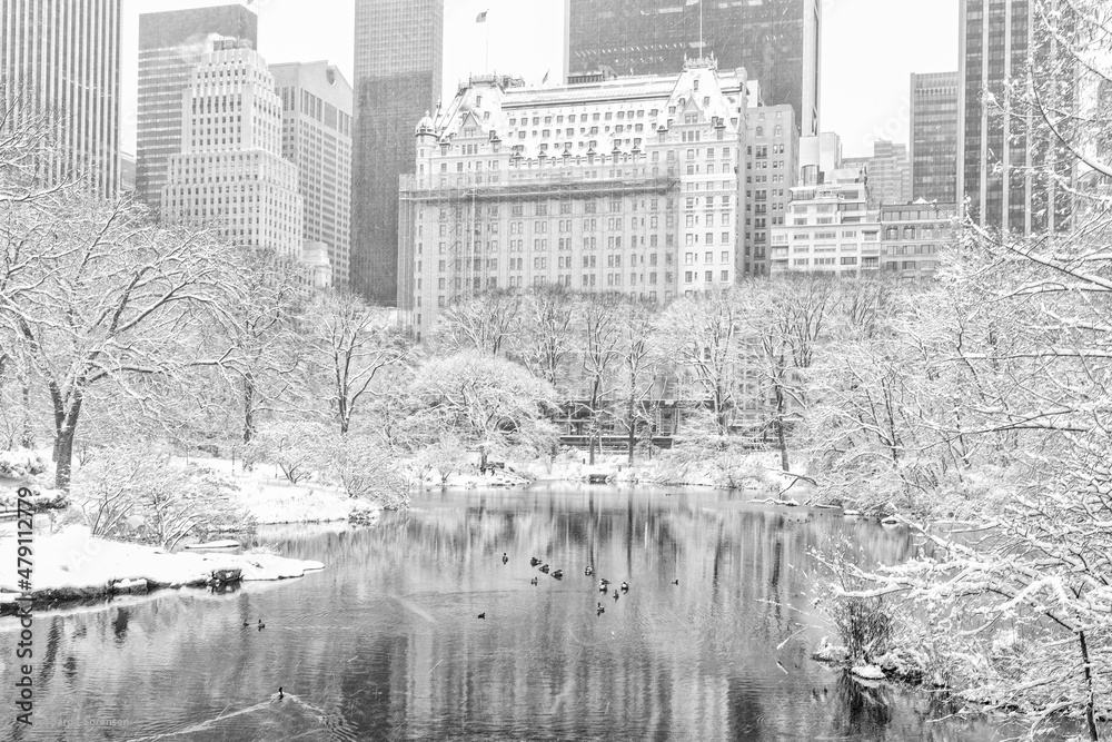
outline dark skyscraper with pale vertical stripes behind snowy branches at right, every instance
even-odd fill
[[[957,199],[969,199],[975,222],[1020,235],[1061,228],[1070,210],[1068,190],[1041,172],[1058,142],[1033,128],[1034,119],[982,105],[984,92],[1003,100],[1006,82],[1022,80],[1051,49],[1049,40],[1036,42],[1033,4],[961,0],[960,8]],[[1069,100],[1055,105],[1072,107]]]

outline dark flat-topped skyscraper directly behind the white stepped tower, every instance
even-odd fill
[[[258,48],[258,17],[244,6],[139,16],[136,197],[156,211],[171,155],[181,151],[181,92],[201,56],[220,39]]]

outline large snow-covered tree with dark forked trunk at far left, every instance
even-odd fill
[[[0,290],[0,323],[49,393],[57,486],[68,488],[82,408],[101,388],[138,405],[158,377],[216,364],[198,353],[234,291],[221,246],[206,233],[152,225],[126,201],[59,194],[18,205],[9,249],[18,270]]]

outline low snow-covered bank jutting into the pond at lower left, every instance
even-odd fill
[[[0,535],[0,591],[10,602],[20,590],[17,573],[18,543],[14,533]],[[89,528],[68,526],[56,534],[33,538],[30,596],[49,602],[99,597],[116,592],[159,587],[201,586],[215,573],[240,580],[285,580],[322,570],[320,562],[291,560],[272,554],[166,553],[140,544],[107,541]]]

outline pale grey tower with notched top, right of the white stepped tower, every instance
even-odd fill
[[[351,86],[326,61],[271,65],[282,106],[282,157],[298,167],[304,239],[324,244],[329,286],[348,285]]]

